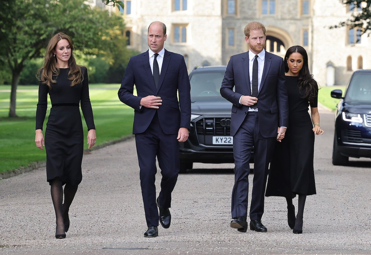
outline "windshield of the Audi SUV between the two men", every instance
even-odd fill
[[[226,101],[220,95],[225,70],[193,73],[190,77],[191,101]]]

